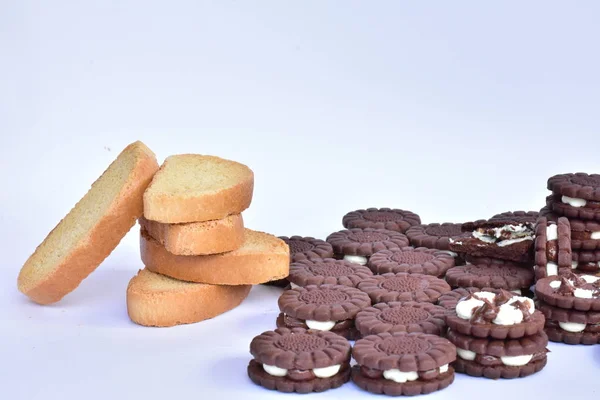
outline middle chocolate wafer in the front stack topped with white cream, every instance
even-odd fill
[[[548,335],[540,331],[535,335],[518,339],[497,340],[461,335],[452,330],[446,336],[457,348],[491,357],[518,357],[523,355],[546,354]],[[459,354],[460,357],[460,354]],[[501,360],[486,360],[489,364],[502,364]]]

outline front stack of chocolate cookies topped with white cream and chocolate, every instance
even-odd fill
[[[545,318],[533,300],[503,289],[459,290],[440,299],[449,310],[447,338],[457,347],[456,372],[499,379],[544,368]]]

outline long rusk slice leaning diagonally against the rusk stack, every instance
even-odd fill
[[[25,262],[19,290],[39,304],[73,291],[142,215],[143,193],[157,170],[146,145],[127,146]]]

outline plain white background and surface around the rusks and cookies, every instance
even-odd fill
[[[200,324],[136,326],[136,229],[56,305],[22,296],[18,271],[137,139],[160,161],[248,164],[246,225],[276,235],[324,238],[369,206],[427,223],[539,209],[549,176],[600,171],[599,13],[591,1],[0,1],[0,398],[282,398],[245,371],[277,289]],[[430,398],[598,394],[600,346],[550,349],[538,375],[459,376]],[[352,384],[313,397],[333,395],[369,397]]]

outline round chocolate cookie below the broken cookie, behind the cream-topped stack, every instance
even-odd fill
[[[491,287],[517,290],[533,284],[533,271],[520,264],[492,258],[470,259],[476,264],[450,268],[446,272],[446,282],[456,287]]]

